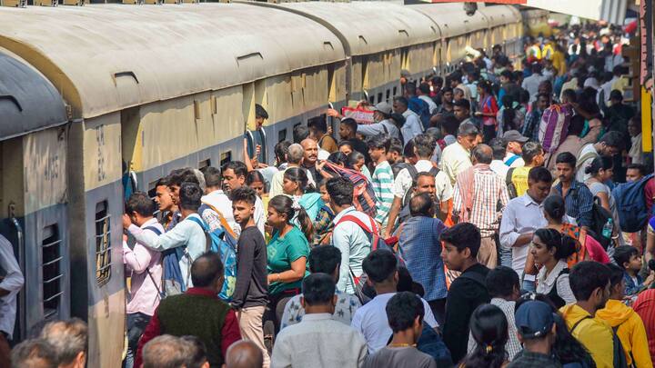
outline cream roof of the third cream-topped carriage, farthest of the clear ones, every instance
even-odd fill
[[[480,12],[469,16],[461,3],[457,4],[417,4],[407,7],[428,15],[438,24],[441,35],[445,38],[464,35],[488,27],[487,19]]]

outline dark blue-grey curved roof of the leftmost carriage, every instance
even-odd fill
[[[0,140],[67,122],[64,100],[43,75],[0,49]]]

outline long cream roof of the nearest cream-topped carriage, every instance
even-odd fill
[[[345,59],[300,15],[246,4],[0,8],[0,46],[35,65],[76,117]]]

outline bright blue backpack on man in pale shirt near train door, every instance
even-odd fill
[[[214,252],[220,255],[223,267],[225,268],[225,281],[223,288],[218,293],[218,297],[226,302],[232,299],[232,294],[237,283],[237,239],[223,227],[216,230],[209,230],[209,226],[203,220],[197,217],[187,217],[187,219],[200,225],[205,236],[207,237],[207,252]]]

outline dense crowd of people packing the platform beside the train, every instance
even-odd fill
[[[124,367],[652,367],[655,180],[622,36],[403,74],[359,105],[374,123],[329,110],[338,136],[297,125],[275,164],[257,105],[243,162],[127,198]],[[46,325],[13,366],[84,364],[82,325]]]

